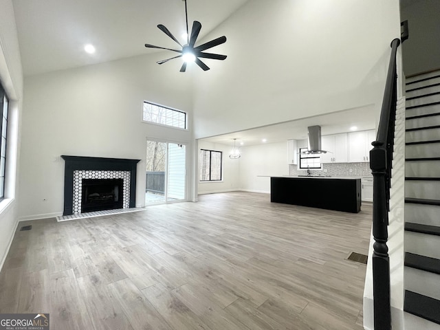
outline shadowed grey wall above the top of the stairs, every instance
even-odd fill
[[[406,76],[440,69],[440,1],[415,1],[401,8],[401,21],[408,20],[409,39],[402,44]]]

